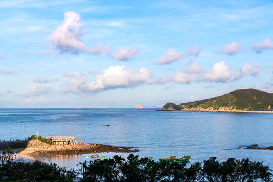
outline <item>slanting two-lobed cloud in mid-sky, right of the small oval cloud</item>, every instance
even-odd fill
[[[197,57],[201,50],[203,48],[195,48],[192,45],[188,47],[187,51],[184,53],[182,52],[177,52],[175,48],[169,48],[162,56],[160,56],[160,59],[154,60],[153,63],[157,64],[170,64],[172,62],[178,61],[181,58],[185,58],[188,56],[195,56]]]

